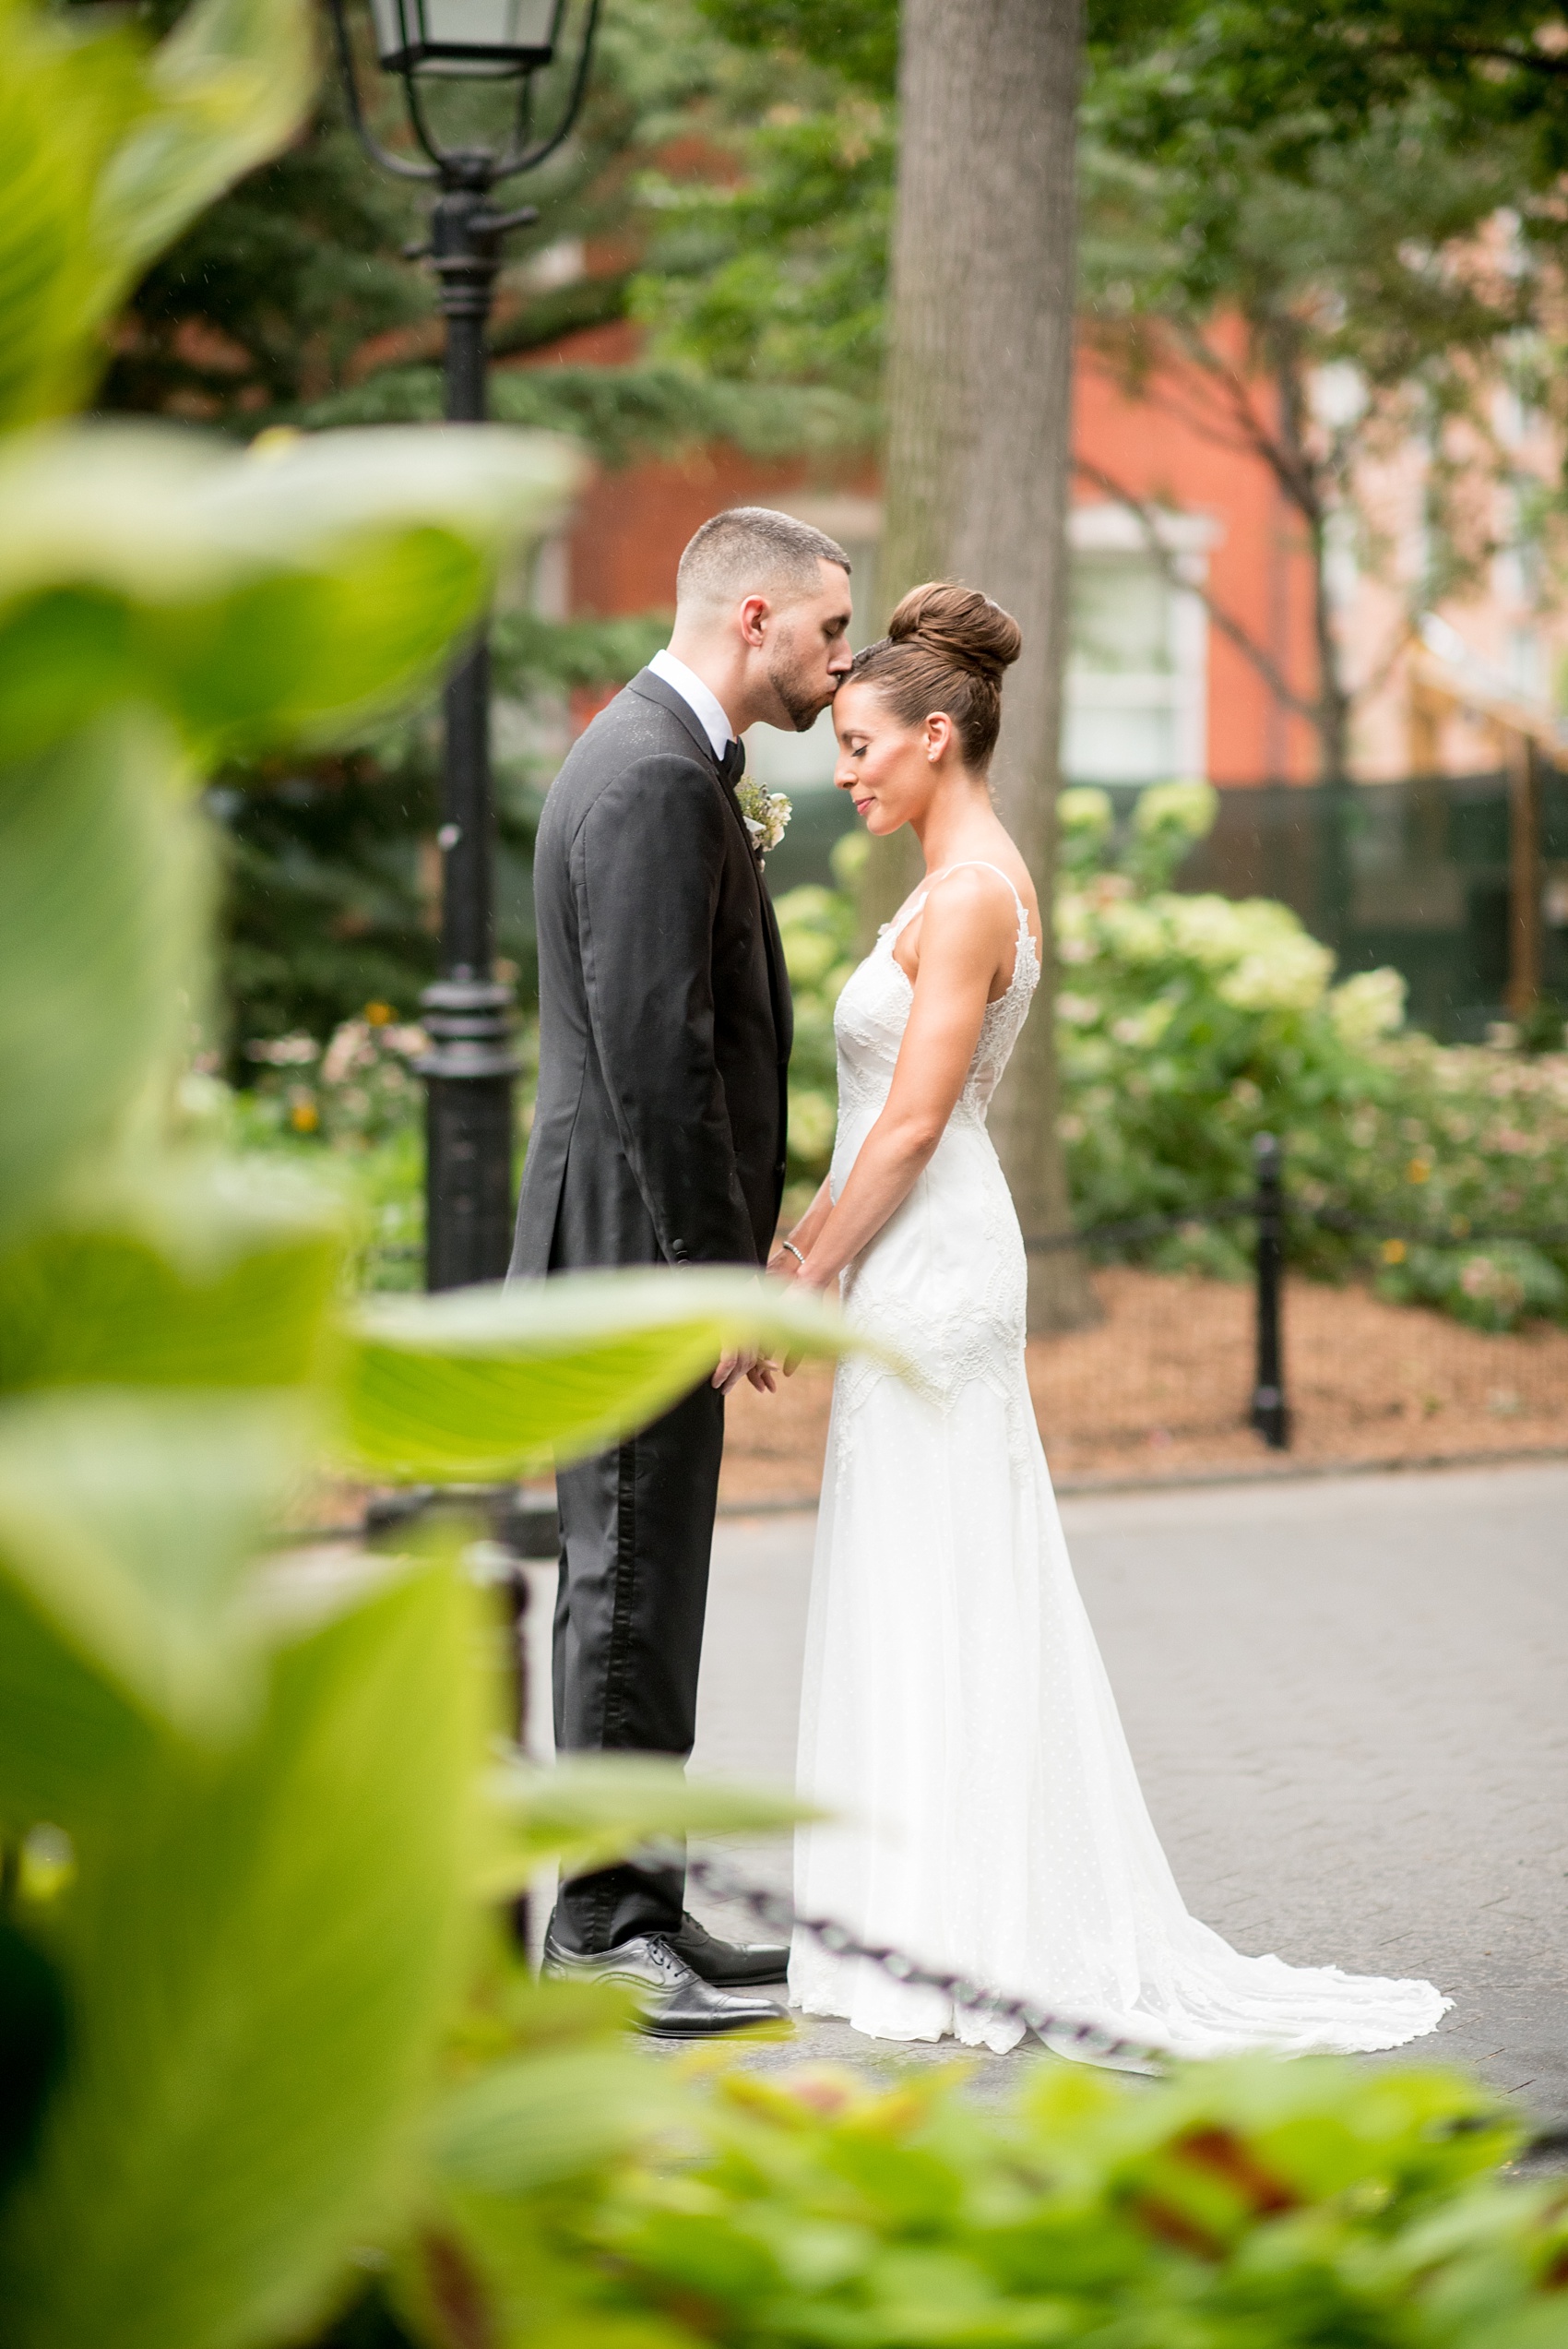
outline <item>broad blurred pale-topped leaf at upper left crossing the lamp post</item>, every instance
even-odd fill
[[[249,456],[153,425],[26,435],[0,458],[0,738],[38,749],[122,700],[204,761],[352,728],[434,669],[580,470],[484,425]]]

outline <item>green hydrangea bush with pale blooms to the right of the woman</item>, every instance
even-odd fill
[[[1242,1196],[1253,1135],[1277,1132],[1303,1207],[1380,1226],[1300,1221],[1293,1261],[1486,1330],[1568,1315],[1566,1055],[1404,1034],[1397,972],[1336,987],[1289,907],[1171,890],[1214,820],[1207,785],[1143,792],[1120,836],[1101,792],[1066,792],[1061,820],[1056,1019],[1080,1221]],[[1556,1238],[1467,1243],[1498,1229]],[[1246,1271],[1235,1229],[1157,1243],[1153,1261]]]

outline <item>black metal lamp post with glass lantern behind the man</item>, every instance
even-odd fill
[[[394,155],[359,103],[345,0],[331,0],[338,63],[359,139],[385,171],[437,186],[427,256],[446,317],[446,416],[484,423],[486,322],[500,240],[538,211],[495,211],[493,190],[533,171],[561,146],[587,89],[599,0],[587,0],[561,120],[533,132],[533,78],[561,45],[566,0],[371,0],[383,73],[404,85],[420,157]],[[444,146],[425,85],[516,82],[500,148]],[[441,763],[441,977],[420,1003],[430,1052],[425,1078],[425,1287],[498,1280],[512,1252],[512,989],[495,977],[495,806],[491,799],[491,658],[484,630],[446,681]]]

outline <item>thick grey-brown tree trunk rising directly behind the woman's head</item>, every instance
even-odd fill
[[[1056,1139],[1052,871],[1068,615],[1073,425],[1073,148],[1082,0],[904,0],[892,249],[885,606],[927,578],[1005,604],[1023,630],[1007,674],[995,803],[1040,890],[1045,977],[991,1106],[1026,1238],[1066,1231]],[[866,916],[918,864],[878,843]],[[1082,1259],[1030,1254],[1030,1330],[1096,1315]]]

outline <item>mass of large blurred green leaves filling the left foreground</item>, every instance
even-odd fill
[[[329,1461],[514,1475],[730,1339],[838,1341],[723,1273],[371,1318],[343,1203],[195,1130],[204,768],[420,691],[575,465],[507,435],[242,458],[59,420],[150,223],[291,132],[307,26],[197,0],[153,52],[12,5],[7,35],[0,2307],[7,2349],[230,2349],[298,2340],[415,2196],[486,1900],[549,1851],[789,1816],[669,1773],[545,1792],[495,1743],[502,1649],[458,1560],[277,1564],[300,1487]],[[45,211],[28,277],[14,230]],[[373,1071],[345,1076],[373,1123]],[[584,2065],[573,2154],[657,2091],[622,2084],[620,2018],[552,2015],[556,2100],[563,2051]]]

